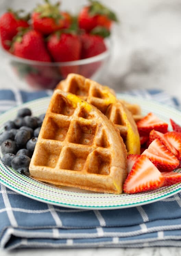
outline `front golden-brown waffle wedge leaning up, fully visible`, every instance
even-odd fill
[[[59,186],[119,194],[126,178],[126,149],[97,108],[55,90],[29,171],[33,178]]]

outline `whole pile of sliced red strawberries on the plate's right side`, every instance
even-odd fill
[[[181,131],[178,124],[170,121],[173,128]],[[141,155],[127,156],[128,176],[124,192],[144,192],[181,182],[181,174],[177,172],[181,167],[181,132],[168,132],[168,124],[153,113],[138,121],[137,126],[144,141],[141,146],[145,148]]]

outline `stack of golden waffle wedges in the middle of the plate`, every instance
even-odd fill
[[[29,166],[33,178],[57,186],[122,192],[126,155],[140,153],[134,115],[108,87],[70,74],[51,98]],[[121,136],[120,136],[121,135]]]

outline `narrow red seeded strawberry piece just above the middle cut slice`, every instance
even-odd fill
[[[178,156],[179,152],[177,151],[176,148],[174,148],[174,146],[167,140],[167,138],[165,137],[165,134],[152,130],[149,134],[149,142],[152,143],[152,141],[154,141],[155,139],[158,139],[159,141],[161,141],[162,144],[164,144],[167,149],[169,151],[171,151],[173,153],[173,155]]]

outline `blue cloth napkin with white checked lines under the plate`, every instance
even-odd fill
[[[0,90],[0,110],[51,91]],[[127,92],[128,93],[128,92]],[[179,108],[179,102],[156,90],[129,92]],[[13,248],[181,246],[181,194],[118,210],[79,210],[41,203],[1,184],[0,245]]]

